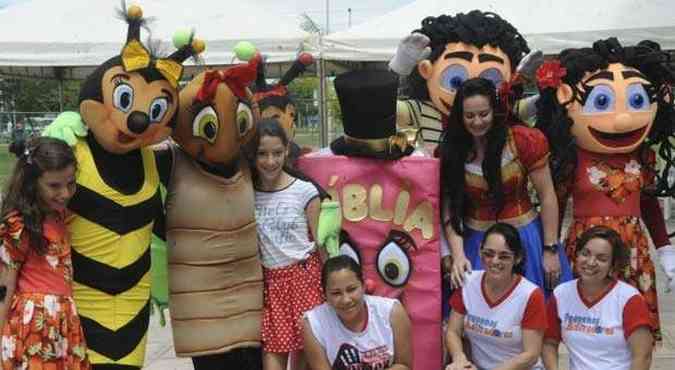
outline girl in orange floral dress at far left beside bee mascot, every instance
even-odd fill
[[[64,223],[75,157],[65,142],[45,137],[10,151],[19,159],[0,224],[2,368],[90,369]]]

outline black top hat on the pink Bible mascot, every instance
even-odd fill
[[[330,144],[338,155],[398,159],[414,148],[395,145],[398,77],[389,71],[352,71],[335,78],[345,134]]]

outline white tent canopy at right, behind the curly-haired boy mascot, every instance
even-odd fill
[[[473,9],[491,11],[513,24],[530,48],[557,54],[616,36],[626,44],[651,39],[675,49],[673,0],[418,0],[323,39],[327,60],[388,61],[398,42],[427,16]]]

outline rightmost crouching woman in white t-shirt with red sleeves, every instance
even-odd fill
[[[548,302],[543,358],[558,370],[564,342],[570,370],[646,370],[654,340],[647,303],[637,289],[614,277],[628,256],[619,234],[605,226],[584,232],[577,242],[579,278],[559,285]]]

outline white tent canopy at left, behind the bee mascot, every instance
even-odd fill
[[[83,78],[118,54],[127,24],[117,18],[120,0],[32,0],[0,9],[0,74],[47,78]],[[128,3],[131,3],[130,1]],[[173,33],[194,28],[206,41],[209,65],[231,64],[234,45],[247,40],[269,63],[295,59],[308,37],[293,17],[248,1],[140,0],[152,38],[162,50],[175,50]],[[148,32],[141,31],[145,42]],[[186,63],[190,64],[189,62]]]

